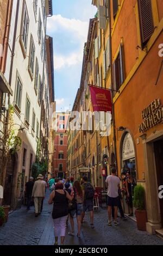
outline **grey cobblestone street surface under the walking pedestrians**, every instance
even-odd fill
[[[0,228],[0,245],[53,245],[52,205],[48,205],[48,197],[49,191],[38,218],[34,216],[34,206],[28,212],[26,206],[12,212],[8,222]],[[95,229],[91,229],[87,214],[80,240],[77,236],[67,235],[70,231],[68,224],[65,245],[163,245],[163,240],[158,236],[137,230],[136,222],[132,220],[120,221],[118,227],[109,227],[107,221],[106,209],[100,208],[95,211]]]

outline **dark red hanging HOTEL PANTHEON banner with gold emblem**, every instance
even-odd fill
[[[90,86],[90,93],[94,111],[111,112],[111,92],[104,88]]]

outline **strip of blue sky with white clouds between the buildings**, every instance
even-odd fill
[[[91,3],[92,0],[53,0],[47,34],[53,37],[57,112],[72,109],[80,86],[89,20],[97,11]]]

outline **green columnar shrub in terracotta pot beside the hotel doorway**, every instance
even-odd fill
[[[137,229],[146,231],[147,212],[145,210],[145,188],[137,185],[134,188],[134,207],[137,221]]]

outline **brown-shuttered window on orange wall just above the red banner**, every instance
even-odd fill
[[[124,68],[123,68],[123,48],[122,44],[120,46],[120,52],[118,53],[117,58],[113,64],[114,71],[114,89],[120,89],[122,83],[124,82]]]

